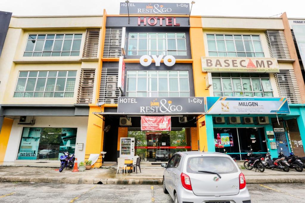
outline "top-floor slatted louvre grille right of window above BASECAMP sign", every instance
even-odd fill
[[[290,59],[290,54],[283,30],[267,30],[265,35],[272,58]]]

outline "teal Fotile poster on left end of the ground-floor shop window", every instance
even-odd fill
[[[17,159],[36,160],[42,128],[23,128]]]

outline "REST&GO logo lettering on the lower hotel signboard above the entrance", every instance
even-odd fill
[[[157,98],[150,102],[149,106],[140,107],[141,113],[171,113],[182,111],[181,105],[173,105],[171,100],[161,99],[160,102]]]

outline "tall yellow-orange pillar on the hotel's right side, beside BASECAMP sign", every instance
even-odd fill
[[[209,96],[209,90],[206,90],[205,77],[206,73],[202,72],[201,57],[205,56],[204,40],[202,30],[201,16],[190,17],[190,40],[193,59],[193,75],[194,75],[194,88],[195,96]],[[201,115],[202,116],[202,115]],[[201,117],[199,116],[199,117]],[[199,139],[200,151],[208,151],[206,126],[201,127],[201,122],[205,121],[205,116],[199,118],[197,121],[197,133]]]

